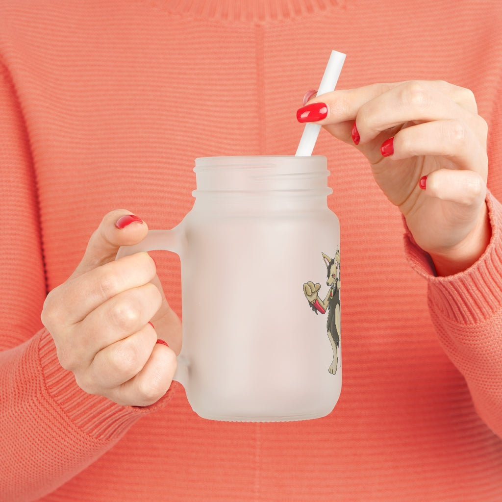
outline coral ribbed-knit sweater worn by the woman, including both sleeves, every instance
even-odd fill
[[[500,502],[501,15],[498,0],[0,0],[0,500]],[[486,253],[434,277],[365,159],[321,131],[342,228],[334,411],[226,423],[178,384],[147,408],[85,394],[41,324],[47,291],[108,211],[176,225],[196,157],[294,154],[331,49],[347,54],[339,88],[474,91]],[[178,259],[155,257],[181,315]]]

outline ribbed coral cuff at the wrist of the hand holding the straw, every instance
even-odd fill
[[[486,203],[492,232],[490,243],[475,264],[452,276],[435,276],[430,256],[416,244],[406,227],[405,251],[410,265],[429,283],[429,306],[453,322],[482,322],[502,305],[502,206],[489,192]]]

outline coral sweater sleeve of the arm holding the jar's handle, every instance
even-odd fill
[[[15,86],[0,65],[0,498],[35,500],[107,451],[139,417],[84,393],[57,359],[46,296],[36,176]]]

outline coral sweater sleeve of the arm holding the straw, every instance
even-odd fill
[[[488,193],[492,227],[483,256],[469,269],[435,277],[431,259],[407,229],[412,267],[428,281],[428,305],[439,341],[463,374],[484,422],[502,437],[502,205]]]

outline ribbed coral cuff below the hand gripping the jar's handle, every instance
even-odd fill
[[[139,418],[162,407],[172,395],[169,390],[154,405],[135,407],[87,394],[78,387],[73,373],[61,367],[50,333],[44,329],[39,337],[40,364],[49,398],[78,429],[98,441],[117,440]]]

